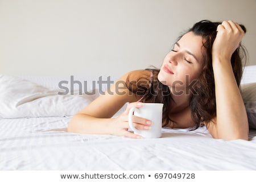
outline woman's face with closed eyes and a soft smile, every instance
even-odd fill
[[[168,85],[172,93],[180,93],[179,90],[188,92],[188,88],[196,85],[202,71],[202,51],[202,37],[188,32],[164,58],[158,80]]]

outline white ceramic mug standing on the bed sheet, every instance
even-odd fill
[[[143,103],[143,106],[139,109],[133,107],[129,110],[128,120],[130,129],[143,138],[159,138],[162,136],[162,114],[163,104],[160,103]],[[150,130],[135,129],[133,125],[133,115],[152,121]]]

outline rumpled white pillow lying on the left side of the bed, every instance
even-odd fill
[[[98,94],[64,95],[19,77],[0,75],[0,118],[73,115]],[[62,90],[63,91],[63,90]]]

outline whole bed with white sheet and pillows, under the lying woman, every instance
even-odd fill
[[[255,71],[256,65],[245,67],[242,79],[250,119],[255,117]],[[73,85],[73,95],[58,94],[60,81],[71,89],[70,79],[0,76],[1,170],[256,169],[255,129],[249,141],[213,139],[205,127],[164,128],[156,139],[67,133],[72,115],[100,94],[96,88],[98,94],[80,95],[79,84]],[[87,89],[94,89],[93,78],[77,80],[90,80]]]

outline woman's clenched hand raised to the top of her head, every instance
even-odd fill
[[[230,60],[238,48],[245,32],[238,23],[224,21],[217,27],[217,35],[212,47],[213,61]]]

